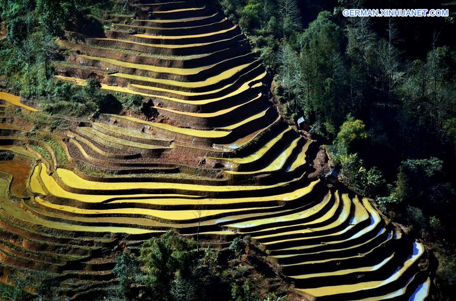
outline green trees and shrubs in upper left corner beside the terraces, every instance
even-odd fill
[[[111,12],[126,12],[116,1],[8,0],[0,3],[0,21],[5,20],[6,36],[0,43],[0,87],[20,93],[40,103],[50,115],[91,117],[102,112],[118,112],[122,105],[139,109],[138,96],[100,91],[96,80],[84,89],[53,79],[52,60],[62,58],[55,37],[62,28],[84,32],[102,30],[99,21]],[[136,106],[135,106],[136,105]]]

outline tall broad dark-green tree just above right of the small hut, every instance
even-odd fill
[[[307,118],[335,134],[346,112],[347,75],[342,55],[342,31],[329,12],[317,19],[299,36],[302,88],[299,98]]]

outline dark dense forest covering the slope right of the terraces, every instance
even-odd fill
[[[294,121],[305,117],[311,134],[330,144],[345,184],[376,199],[385,214],[435,247],[442,289],[454,288],[452,18],[428,19],[423,33],[410,36],[412,21],[342,17],[342,8],[384,8],[381,1],[324,2],[321,7],[333,11],[321,11],[313,21],[306,15],[314,12],[311,1],[220,4],[275,74],[285,114]],[[407,8],[420,5],[407,2]],[[422,43],[419,50],[408,48],[413,40]]]

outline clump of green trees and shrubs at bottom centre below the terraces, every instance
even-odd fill
[[[120,285],[109,299],[284,301],[286,296],[259,296],[252,288],[247,247],[238,237],[222,251],[198,249],[193,239],[168,231],[145,242],[138,256],[124,252],[117,258]]]

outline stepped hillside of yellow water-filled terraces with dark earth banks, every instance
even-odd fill
[[[200,223],[205,243],[250,235],[308,300],[426,299],[423,245],[368,199],[309,176],[316,143],[278,115],[239,27],[209,2],[135,6],[104,36],[66,32],[56,80],[97,78],[151,99],[159,115],[102,115],[42,140],[4,118],[1,149],[31,167],[17,196],[17,175],[0,165],[2,279],[46,269],[59,294],[87,299],[116,283],[120,244],[137,248],[168,229],[195,235]]]

